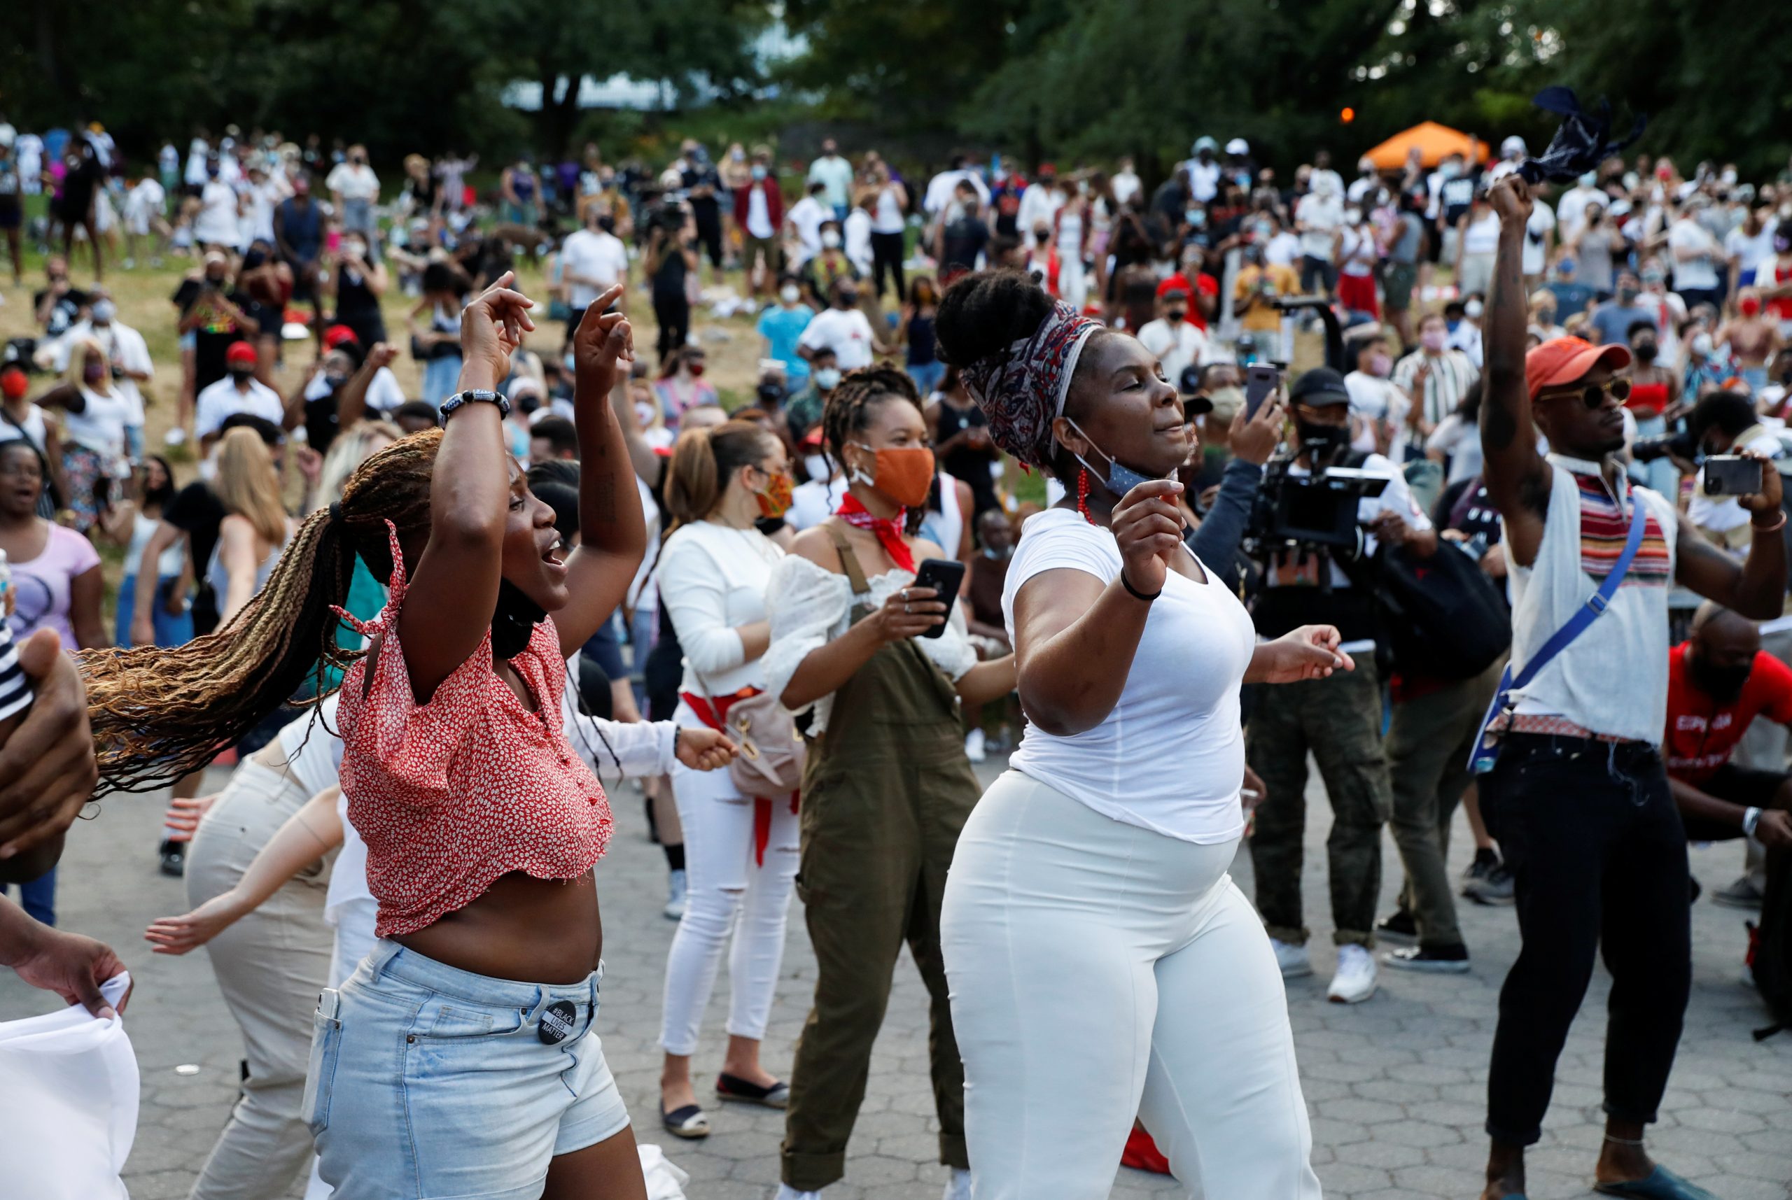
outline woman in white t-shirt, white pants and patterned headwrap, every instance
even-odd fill
[[[1183,407],[1136,339],[1000,270],[946,292],[939,340],[995,442],[1070,489],[1009,566],[1027,736],[941,919],[977,1196],[1106,1196],[1138,1112],[1192,1196],[1315,1200],[1281,974],[1226,874],[1238,684],[1353,664],[1328,627],[1256,645],[1185,548]]]

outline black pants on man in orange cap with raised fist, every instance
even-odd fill
[[[1593,976],[1611,973],[1606,1112],[1654,1121],[1692,987],[1686,831],[1654,747],[1507,734],[1480,813],[1512,869],[1521,949],[1500,990],[1487,1134],[1538,1141],[1555,1060]]]

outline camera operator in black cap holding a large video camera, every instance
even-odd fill
[[[1373,596],[1353,586],[1330,553],[1367,559],[1378,543],[1407,544],[1428,557],[1437,548],[1430,519],[1412,501],[1405,478],[1383,455],[1349,451],[1349,392],[1330,367],[1314,367],[1288,394],[1296,444],[1290,478],[1353,466],[1380,476],[1378,496],[1357,501],[1366,532],[1357,553],[1301,544],[1292,553],[1271,546],[1263,591],[1253,609],[1258,636],[1278,638],[1306,623],[1335,625],[1357,670],[1287,688],[1265,690],[1251,716],[1247,759],[1269,786],[1256,810],[1251,861],[1256,906],[1263,913],[1287,978],[1312,973],[1306,926],[1301,921],[1301,836],[1306,826],[1306,754],[1319,761],[1331,802],[1326,844],[1331,874],[1333,940],[1339,969],[1328,996],[1358,1003],[1374,994],[1374,904],[1382,888],[1382,826],[1392,811],[1387,761],[1382,754],[1382,681],[1374,668]]]

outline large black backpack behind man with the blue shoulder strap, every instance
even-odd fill
[[[1443,537],[1432,557],[1405,546],[1374,555],[1382,643],[1401,673],[1473,679],[1512,645],[1512,618],[1498,586]]]

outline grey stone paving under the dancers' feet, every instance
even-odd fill
[[[991,763],[980,774],[987,779],[995,770]],[[654,1121],[659,1064],[654,1039],[674,924],[659,915],[665,869],[659,851],[645,838],[640,797],[625,786],[615,799],[618,835],[599,881],[607,960],[599,1028],[609,1064],[636,1114],[638,1137],[663,1144],[674,1162],[690,1171],[692,1200],[767,1200],[778,1182],[780,1114],[720,1109],[711,1114],[715,1134],[695,1144],[663,1134]],[[125,1182],[136,1200],[179,1198],[186,1196],[235,1098],[242,1044],[204,956],[152,956],[142,940],[152,917],[185,910],[183,885],[154,869],[161,799],[116,797],[102,808],[97,820],[77,826],[72,835],[61,869],[61,922],[109,940],[133,969],[136,994],[127,1023],[143,1073],[143,1105]],[[1315,928],[1315,974],[1292,981],[1288,999],[1319,1179],[1328,1196],[1351,1200],[1477,1196],[1486,1153],[1480,1125],[1495,1003],[1518,951],[1512,910],[1462,904],[1464,935],[1475,953],[1473,974],[1383,971],[1382,990],[1371,1001],[1328,1005],[1324,985],[1333,953],[1324,904],[1324,836],[1330,813],[1317,781],[1310,815],[1306,897],[1308,921]],[[1460,860],[1469,845],[1466,827],[1452,845]],[[1708,890],[1729,883],[1738,867],[1735,845],[1693,851],[1693,874]],[[1249,856],[1240,856],[1235,874],[1251,894]],[[1382,912],[1391,906],[1398,885],[1398,856],[1389,840]],[[1792,1033],[1763,1044],[1749,1037],[1749,1030],[1765,1024],[1765,1010],[1738,985],[1742,913],[1704,901],[1695,904],[1693,947],[1686,1035],[1650,1146],[1720,1200],[1787,1200],[1792,1196]],[[774,1071],[790,1062],[814,976],[801,910],[792,904],[783,981],[765,1046],[765,1062]],[[1607,978],[1598,971],[1561,1060],[1543,1143],[1530,1155],[1532,1200],[1593,1195],[1606,990]],[[25,1016],[56,1003],[0,973],[0,1016]],[[704,1073],[720,1064],[724,1007],[726,978],[697,1055]],[[199,1069],[183,1075],[181,1066]],[[1073,1087],[1073,1082],[1064,1085]],[[873,1059],[848,1177],[828,1189],[828,1200],[937,1196],[944,1168],[934,1162],[934,1128],[925,990],[905,960],[896,971],[889,1019]],[[1177,1195],[1177,1186],[1120,1171],[1113,1195],[1127,1200]]]

